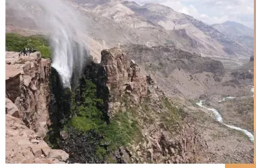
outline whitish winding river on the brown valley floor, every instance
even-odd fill
[[[251,86],[251,92],[254,94],[254,86]],[[252,95],[252,97],[254,97],[254,95]],[[235,97],[226,97],[226,98],[223,98],[222,101],[219,101],[219,103],[223,102],[223,101],[226,101],[227,99],[233,99]],[[203,106],[203,101],[199,101],[198,103],[196,103],[198,106],[200,106],[201,108],[205,108],[207,109],[208,111],[211,111],[213,113],[213,115],[215,116],[216,118],[216,121],[219,121],[220,123],[224,124],[225,126],[229,127],[230,129],[234,129],[234,130],[237,130],[237,131],[241,131],[242,133],[244,133],[245,135],[248,136],[248,138],[250,139],[250,141],[252,141],[252,143],[254,143],[254,136],[252,133],[250,133],[249,131],[245,130],[245,129],[241,129],[237,126],[230,126],[230,125],[227,125],[226,123],[224,123],[222,117],[221,117],[221,114],[219,113],[219,111],[217,111],[215,108],[208,108],[206,106]]]

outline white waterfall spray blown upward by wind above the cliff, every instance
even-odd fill
[[[81,68],[87,55],[87,42],[82,32],[85,25],[79,22],[79,13],[64,0],[8,0],[6,5],[15,12],[21,22],[34,22],[37,29],[45,32],[53,49],[53,67],[56,68],[63,87],[71,88],[71,77]],[[27,25],[29,27],[29,25]]]

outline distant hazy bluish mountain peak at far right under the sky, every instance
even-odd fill
[[[244,46],[253,50],[254,32],[253,29],[236,22],[224,22],[222,24],[213,24],[212,27],[218,29],[219,32],[226,34],[227,37],[234,39]]]

